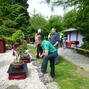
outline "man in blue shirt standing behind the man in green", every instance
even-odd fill
[[[50,42],[54,45],[54,47],[58,50],[58,46],[59,46],[59,41],[60,41],[60,37],[56,31],[56,28],[52,28],[52,38],[50,40]],[[58,58],[55,59],[55,64],[58,64]]]

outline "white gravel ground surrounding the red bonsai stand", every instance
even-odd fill
[[[37,66],[33,63],[28,63],[28,76],[24,80],[8,80],[7,70],[10,63],[13,61],[12,51],[0,54],[0,89],[59,89],[53,82],[45,85],[39,78]]]

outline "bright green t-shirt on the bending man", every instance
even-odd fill
[[[44,40],[42,42],[42,49],[44,51],[48,51],[49,54],[51,54],[51,53],[56,51],[56,48],[47,40]]]

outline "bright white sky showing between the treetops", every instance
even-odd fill
[[[28,0],[29,15],[33,14],[33,10],[36,10],[36,13],[41,13],[45,17],[50,17],[51,15],[61,15],[63,16],[64,11],[63,7],[55,7],[54,11],[51,11],[51,8],[46,3],[40,3],[42,0]]]

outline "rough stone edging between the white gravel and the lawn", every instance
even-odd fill
[[[39,78],[47,89],[60,89],[58,84],[54,82],[53,78],[51,78],[48,74],[42,74],[40,62],[34,61],[32,64],[37,67]]]

